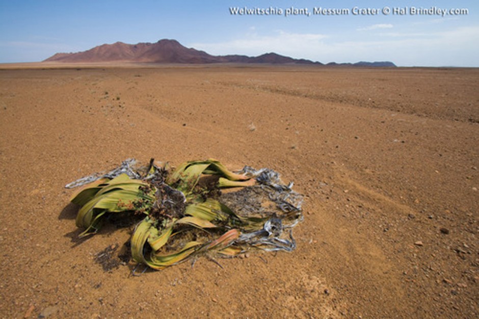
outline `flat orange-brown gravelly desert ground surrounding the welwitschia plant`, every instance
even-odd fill
[[[479,317],[479,69],[0,65],[0,317]],[[293,252],[132,276],[64,185],[134,157],[269,167]]]

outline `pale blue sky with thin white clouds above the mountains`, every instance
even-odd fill
[[[283,14],[233,15],[230,8]],[[287,9],[307,15],[285,16]],[[347,9],[343,15],[314,8]],[[355,14],[380,9],[377,14]],[[388,14],[384,14],[383,10]],[[407,7],[405,14],[399,9]],[[447,10],[412,14],[411,8]],[[467,14],[449,14],[467,9]],[[403,11],[404,12],[404,11]],[[0,63],[38,62],[103,43],[176,39],[212,55],[276,52],[313,61],[392,61],[399,66],[479,67],[477,1],[83,0],[0,1]]]

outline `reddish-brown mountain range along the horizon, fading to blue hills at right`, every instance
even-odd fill
[[[44,62],[95,63],[95,62],[133,62],[133,63],[265,63],[265,64],[305,64],[323,65],[305,59],[293,59],[267,53],[258,57],[242,55],[212,56],[205,51],[187,48],[176,40],[163,39],[156,43],[126,44],[116,42],[102,44],[92,49],[76,53],[57,53]],[[392,62],[359,62],[361,66],[395,66]],[[366,65],[367,64],[367,65]],[[387,65],[386,65],[387,64]],[[341,64],[342,65],[342,64]],[[354,65],[357,65],[354,64]]]

